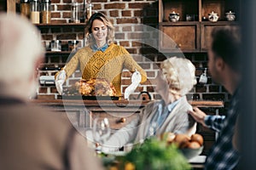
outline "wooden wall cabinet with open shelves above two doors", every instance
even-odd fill
[[[159,50],[161,53],[206,52],[211,31],[216,26],[238,26],[240,0],[159,0]],[[217,22],[207,20],[218,14]],[[235,21],[227,21],[225,13],[236,13]],[[169,20],[171,13],[179,20]]]

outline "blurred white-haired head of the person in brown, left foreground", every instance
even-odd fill
[[[43,54],[40,34],[29,20],[16,14],[0,14],[0,85],[2,87],[15,86],[20,91],[26,90],[20,89],[20,86],[32,82],[36,62]]]

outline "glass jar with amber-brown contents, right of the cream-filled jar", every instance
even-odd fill
[[[51,19],[50,0],[42,0],[40,19],[42,24],[49,24]]]

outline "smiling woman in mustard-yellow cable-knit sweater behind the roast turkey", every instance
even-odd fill
[[[114,28],[108,17],[102,13],[92,14],[85,26],[89,45],[79,49],[61,71],[55,75],[56,88],[62,93],[62,84],[67,77],[76,71],[78,65],[84,80],[104,78],[113,83],[117,96],[121,95],[121,73],[123,68],[131,72],[139,71],[142,81],[147,80],[147,74],[137,65],[122,46],[113,43]]]

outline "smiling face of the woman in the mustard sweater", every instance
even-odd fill
[[[94,20],[91,26],[91,32],[96,40],[96,43],[106,43],[108,36],[108,26],[102,20]]]

